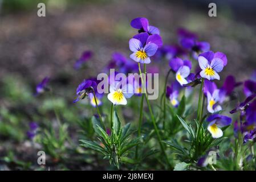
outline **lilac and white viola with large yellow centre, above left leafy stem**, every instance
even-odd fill
[[[133,96],[134,90],[131,84],[126,84],[124,81],[113,82],[109,86],[108,100],[113,105],[126,105],[126,98]]]

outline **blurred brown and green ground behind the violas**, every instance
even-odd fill
[[[46,17],[37,16],[39,2],[46,3]],[[217,4],[217,17],[208,16],[210,2]],[[76,86],[100,73],[113,52],[129,56],[128,41],[136,33],[130,22],[139,16],[159,27],[164,44],[177,43],[177,28],[195,32],[213,51],[226,53],[229,64],[222,77],[245,80],[256,68],[255,9],[254,0],[0,0],[0,156],[12,148],[21,155],[29,152],[19,145],[27,122],[42,121],[52,109],[50,99],[33,96],[46,76],[55,85],[55,105],[63,117],[75,119]],[[94,52],[87,69],[74,69],[86,50]],[[157,63],[160,77],[167,65]]]

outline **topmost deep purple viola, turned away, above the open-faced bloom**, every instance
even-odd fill
[[[147,32],[150,35],[160,34],[159,28],[150,26],[147,18],[135,18],[131,22],[131,26],[141,32]]]

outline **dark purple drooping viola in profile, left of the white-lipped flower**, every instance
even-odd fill
[[[76,100],[73,101],[73,103],[78,102],[79,100],[84,99],[86,96],[88,96],[89,93],[92,93],[93,90],[96,90],[97,84],[95,81],[92,80],[84,80],[81,84],[78,85],[78,88],[76,89],[76,95],[78,96]]]

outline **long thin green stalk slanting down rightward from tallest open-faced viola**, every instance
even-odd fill
[[[138,63],[138,66],[139,66],[139,72],[140,72],[140,75],[141,75],[140,63]],[[144,64],[144,72],[146,73],[146,64]],[[145,88],[145,86],[144,86],[143,77],[141,77],[141,82],[142,82],[143,89],[144,89],[144,92],[145,92],[145,98],[146,98],[146,101],[147,101],[148,110],[149,110],[149,113],[150,113],[150,115],[151,115],[151,119],[152,119],[152,122],[153,122],[153,126],[154,126],[155,131],[156,131],[157,140],[159,141],[160,148],[161,148],[162,154],[164,154],[164,157],[165,157],[166,162],[168,163],[169,167],[171,167],[171,165],[170,165],[170,163],[169,163],[169,160],[168,160],[168,156],[166,155],[164,146],[163,146],[163,144],[161,143],[161,136],[160,136],[160,133],[159,133],[159,129],[157,128],[157,125],[156,125],[156,120],[155,120],[155,117],[154,117],[154,115],[153,115],[153,112],[152,112],[152,109],[151,109],[151,105],[150,105],[149,100],[148,100],[148,94],[147,94],[147,90],[146,90],[146,88]]]

